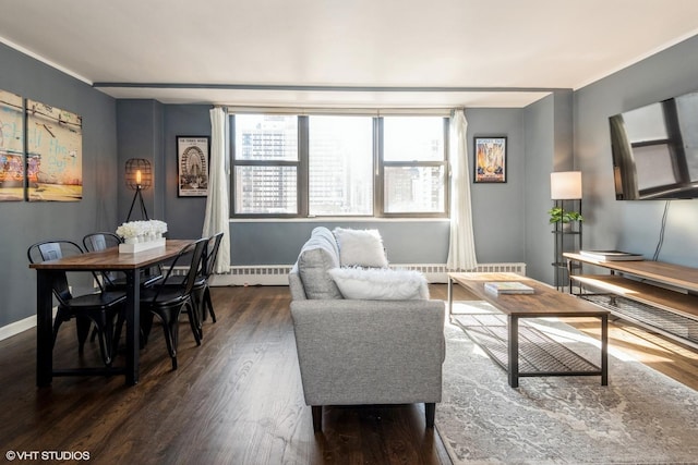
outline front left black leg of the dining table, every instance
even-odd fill
[[[53,273],[37,270],[36,274],[36,386],[51,386],[53,377]]]

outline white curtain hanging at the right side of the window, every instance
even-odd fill
[[[467,271],[478,266],[472,232],[470,206],[470,174],[468,171],[468,122],[464,109],[450,115],[450,240],[448,244],[449,270]]]

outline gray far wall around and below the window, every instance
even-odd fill
[[[156,171],[156,186],[146,192],[148,212],[153,204],[163,204],[161,215],[151,215],[168,223],[170,237],[198,237],[202,233],[205,198],[177,196],[178,135],[210,135],[208,106],[160,105],[154,100],[120,100],[118,102],[120,163],[139,157],[161,159]],[[158,117],[159,114],[159,117]],[[481,262],[524,261],[524,218],[526,150],[524,110],[468,109],[468,140],[476,135],[508,137],[508,181],[506,184],[472,184],[474,234],[478,259]],[[157,122],[163,121],[158,126]],[[160,143],[164,152],[157,151]],[[472,146],[470,146],[472,150]],[[471,154],[470,154],[471,155]],[[157,167],[158,163],[154,162]],[[472,158],[468,160],[472,170]],[[133,193],[120,185],[119,210],[125,218]],[[154,197],[154,198],[153,198]],[[125,201],[128,200],[128,201]],[[157,211],[157,209],[154,209]],[[318,224],[329,228],[375,228],[383,235],[392,262],[444,264],[448,254],[448,222],[430,221],[232,221],[232,265],[290,265]]]

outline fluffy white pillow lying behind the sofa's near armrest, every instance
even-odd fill
[[[428,299],[426,278],[419,271],[389,268],[333,268],[327,271],[345,298]]]

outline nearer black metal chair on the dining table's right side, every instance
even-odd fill
[[[147,344],[153,317],[163,322],[165,342],[172,360],[172,369],[177,369],[177,345],[179,339],[179,317],[182,311],[189,316],[189,323],[196,345],[201,345],[200,322],[196,316],[193,289],[196,277],[201,273],[202,256],[206,249],[207,238],[200,238],[183,247],[169,265],[165,279],[152,287],[141,291],[141,336],[142,344]],[[185,279],[180,285],[168,285],[167,280],[178,266],[186,265]]]

